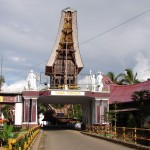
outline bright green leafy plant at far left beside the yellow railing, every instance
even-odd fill
[[[5,122],[3,125],[3,130],[0,131],[0,139],[4,145],[7,144],[9,138],[12,138],[14,136],[12,131],[13,126],[12,125],[8,126],[7,123]]]

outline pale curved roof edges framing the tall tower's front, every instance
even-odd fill
[[[81,55],[80,55],[80,51],[79,51],[79,44],[78,44],[78,28],[77,28],[77,12],[76,10],[70,8],[70,7],[67,7],[65,9],[62,10],[61,12],[61,18],[60,18],[60,24],[59,24],[59,30],[58,30],[58,34],[57,34],[57,37],[56,37],[56,41],[55,41],[55,44],[54,44],[54,47],[53,47],[53,50],[51,52],[51,55],[49,57],[49,60],[46,64],[46,71],[45,71],[45,74],[46,75],[49,75],[49,73],[52,73],[52,67],[55,63],[55,60],[56,60],[56,56],[57,56],[57,50],[58,50],[58,47],[60,45],[60,41],[62,39],[62,34],[63,34],[63,31],[64,31],[64,27],[65,27],[65,19],[66,19],[66,13],[67,12],[71,12],[72,13],[72,39],[73,39],[73,47],[74,47],[74,55],[75,55],[75,60],[76,60],[76,65],[78,67],[78,73],[83,69],[83,62],[82,62],[82,59],[81,59]],[[67,28],[66,28],[67,29]]]

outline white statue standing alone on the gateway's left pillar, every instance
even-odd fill
[[[30,73],[27,77],[27,84],[28,84],[28,89],[29,90],[36,90],[36,76],[33,73],[33,70],[30,70]]]

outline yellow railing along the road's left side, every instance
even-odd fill
[[[19,133],[17,138],[8,139],[8,149],[9,150],[26,150],[29,148],[30,144],[39,133],[40,127],[36,126],[29,129],[26,132]]]

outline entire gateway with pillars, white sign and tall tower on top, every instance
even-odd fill
[[[50,87],[47,90],[23,91],[23,125],[38,124],[38,102],[81,104],[82,121],[85,124],[105,121],[104,116],[109,109],[111,81],[104,74],[100,74],[103,80],[102,88],[96,82],[92,82],[92,85],[87,83],[82,89],[78,83],[78,76],[83,67],[78,44],[77,11],[66,8],[61,12],[56,41],[45,66],[45,75],[50,79]],[[95,77],[91,72],[89,79],[90,76]]]

